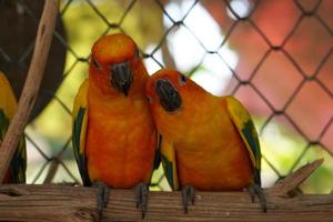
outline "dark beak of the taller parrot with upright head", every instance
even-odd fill
[[[133,81],[130,64],[128,62],[113,64],[110,79],[112,87],[128,97]]]

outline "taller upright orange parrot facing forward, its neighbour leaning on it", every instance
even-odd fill
[[[99,188],[100,213],[109,189],[132,188],[142,218],[147,212],[160,140],[145,97],[148,78],[131,37],[103,36],[92,46],[89,77],[74,99],[72,144],[83,185]]]

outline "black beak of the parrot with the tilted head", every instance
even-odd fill
[[[182,104],[182,99],[176,89],[165,79],[159,79],[155,83],[160,103],[168,112],[178,110]]]

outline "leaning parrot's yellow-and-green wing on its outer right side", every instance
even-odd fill
[[[261,152],[258,133],[248,110],[233,97],[225,97],[229,114],[246,144],[251,162],[255,169],[254,182],[261,185]]]

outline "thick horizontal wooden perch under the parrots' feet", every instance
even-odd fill
[[[333,194],[281,196],[270,190],[265,191],[268,213],[262,213],[256,200],[251,202],[248,192],[198,192],[188,214],[180,192],[150,192],[144,220],[132,190],[111,190],[102,221],[333,221]],[[98,220],[95,188],[0,186],[0,221]]]

